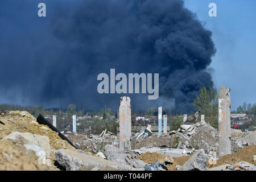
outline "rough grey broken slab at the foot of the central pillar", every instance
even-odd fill
[[[135,159],[130,154],[120,151],[117,147],[107,144],[104,149],[104,155],[107,160],[121,164],[123,166],[129,166],[131,168],[144,168],[146,163],[140,159]]]

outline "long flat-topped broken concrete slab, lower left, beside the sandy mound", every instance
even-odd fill
[[[68,149],[60,149],[55,152],[57,162],[65,167],[67,171],[86,170],[129,170],[121,164],[109,160],[98,158],[97,156],[86,154],[85,152],[76,152]]]

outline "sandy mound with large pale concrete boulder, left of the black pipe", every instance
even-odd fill
[[[21,151],[35,161],[42,160],[44,169],[57,169],[55,151],[76,150],[46,125],[40,125],[27,111],[5,111],[1,114],[0,143]]]

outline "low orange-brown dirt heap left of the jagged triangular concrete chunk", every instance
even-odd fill
[[[167,164],[167,168],[169,171],[175,171],[176,165],[183,166],[183,164],[191,158],[193,154],[189,156],[181,156],[180,158],[172,158],[174,160],[173,164]],[[158,154],[156,152],[146,152],[142,155],[139,155],[137,159],[143,160],[144,163],[155,163],[156,160],[159,161],[159,163],[163,163],[164,159],[167,157],[167,159],[171,160],[171,157],[169,155],[162,155]]]

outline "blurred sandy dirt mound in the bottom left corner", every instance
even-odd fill
[[[39,165],[36,160],[28,158],[22,151],[17,151],[12,147],[0,142],[0,170],[11,171],[42,171],[45,166]]]

